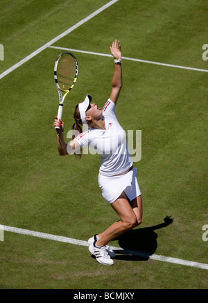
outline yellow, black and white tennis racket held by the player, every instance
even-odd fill
[[[65,51],[60,54],[55,60],[54,79],[55,85],[58,89],[59,106],[58,106],[58,120],[62,118],[62,111],[64,106],[64,99],[76,83],[78,75],[78,63],[73,54]],[[62,97],[62,92],[64,95]],[[60,129],[59,126],[55,126]]]

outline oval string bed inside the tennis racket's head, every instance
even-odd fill
[[[61,56],[57,67],[57,80],[61,90],[69,90],[76,76],[76,63],[73,58],[65,54]]]

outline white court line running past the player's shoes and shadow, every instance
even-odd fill
[[[33,236],[33,237],[37,237],[37,238],[44,238],[44,239],[48,239],[48,240],[55,240],[55,241],[59,241],[59,242],[82,245],[82,246],[89,246],[87,241],[77,240],[77,239],[72,239],[72,238],[67,238],[67,237],[62,237],[62,236],[55,236],[52,234],[40,233],[38,231],[30,231],[28,229],[19,229],[17,227],[8,227],[6,225],[0,225],[0,229],[3,229],[3,231],[10,231],[10,232],[16,233],[16,234],[23,234],[23,235]],[[157,254],[150,255],[145,252],[137,252],[135,250],[123,249],[121,247],[111,246],[111,249],[116,250],[119,254],[131,254],[133,256],[141,256],[146,259],[152,259],[152,260],[163,261],[163,262],[168,262],[168,263],[175,263],[175,264],[180,264],[180,265],[191,266],[193,268],[201,268],[203,270],[208,270],[208,264],[205,264],[205,263],[198,263],[198,262],[193,262],[193,261],[188,261],[188,260],[176,259],[176,258],[171,258],[168,256],[160,256]]]

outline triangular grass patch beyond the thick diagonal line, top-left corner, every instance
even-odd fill
[[[2,0],[0,43],[5,58],[3,72],[42,47],[51,39],[84,19],[106,3],[105,0]]]

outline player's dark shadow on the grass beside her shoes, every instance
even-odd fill
[[[157,249],[157,234],[155,230],[167,227],[173,223],[171,216],[166,216],[164,222],[153,227],[132,229],[115,240],[123,249],[114,249],[115,259],[126,261],[146,261]]]

